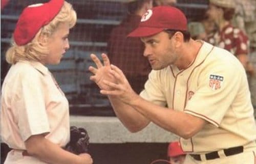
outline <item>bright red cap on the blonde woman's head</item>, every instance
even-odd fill
[[[29,43],[41,29],[59,13],[64,0],[51,0],[45,4],[34,4],[26,7],[20,14],[14,30],[14,41],[17,45]]]

